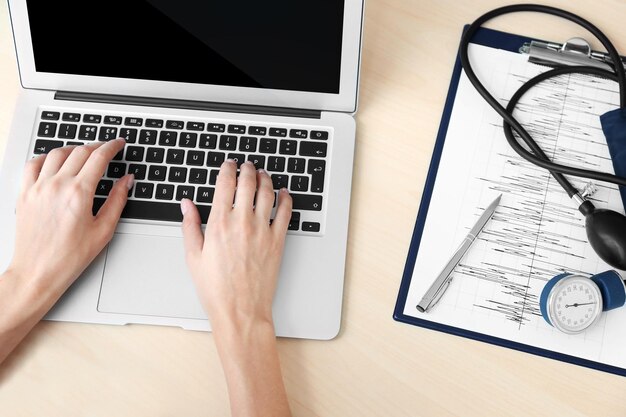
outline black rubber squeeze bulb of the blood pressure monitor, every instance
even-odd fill
[[[607,264],[626,270],[626,216],[613,210],[597,209],[585,201],[579,210],[585,215],[587,239]]]

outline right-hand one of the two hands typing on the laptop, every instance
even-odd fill
[[[267,172],[250,162],[241,165],[238,180],[236,172],[234,161],[222,164],[204,235],[195,205],[181,201],[187,264],[214,330],[273,325],[272,299],[291,218],[292,200],[282,189],[270,225],[274,192]]]

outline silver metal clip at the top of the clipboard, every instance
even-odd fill
[[[524,43],[519,52],[528,55],[528,61],[550,67],[585,65],[613,71],[613,60],[605,52],[591,50],[583,38],[572,38],[564,44],[532,41]],[[626,58],[620,57],[626,67]]]

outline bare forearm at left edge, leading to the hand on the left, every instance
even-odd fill
[[[16,273],[7,271],[0,275],[0,363],[52,308],[57,298]]]

